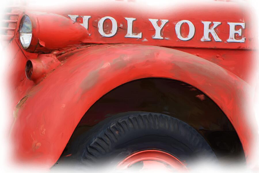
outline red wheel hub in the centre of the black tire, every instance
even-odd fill
[[[123,159],[123,161],[118,164],[117,168],[131,168],[136,163],[141,163],[143,165],[141,170],[186,170],[186,167],[179,159],[169,153],[159,150],[138,151]]]

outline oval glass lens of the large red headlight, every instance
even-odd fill
[[[24,49],[27,49],[31,44],[32,25],[29,16],[22,17],[20,22],[20,42]]]

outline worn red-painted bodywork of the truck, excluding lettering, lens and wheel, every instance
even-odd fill
[[[15,52],[12,66],[17,69],[10,74],[14,90],[12,109],[17,117],[11,133],[16,158],[51,167],[82,116],[100,97],[126,82],[158,77],[186,82],[210,97],[233,124],[249,162],[250,144],[257,137],[253,133],[256,127],[248,118],[252,112],[251,96],[247,93],[251,90],[250,74],[258,68],[253,66],[258,62],[255,58],[258,44],[250,11],[237,3],[225,2],[160,11],[138,10],[135,4],[114,2],[114,5],[116,8],[87,4],[65,11],[25,9],[23,12],[14,8],[13,13],[19,14],[18,24],[9,46]],[[31,53],[19,41],[19,22],[24,13],[34,22],[35,35],[27,50]],[[79,25],[81,20],[73,22],[68,14],[90,15],[88,31]],[[98,20],[104,16],[111,16],[118,23],[113,37],[102,37],[98,32]],[[125,38],[125,17],[136,18],[133,32],[142,32],[142,38]],[[168,19],[162,35],[169,39],[152,39],[155,29],[148,18]],[[195,35],[189,41],[176,37],[174,28],[180,20],[190,20],[195,25]],[[222,22],[216,29],[222,42],[213,38],[211,42],[201,41],[201,20]],[[244,43],[226,42],[227,22],[245,22]],[[107,21],[105,26],[108,33],[111,22]],[[189,28],[184,25],[182,36],[188,32]],[[56,63],[49,63],[45,57],[53,57]],[[28,59],[44,61],[44,73],[39,72],[33,81],[27,80],[24,73]]]

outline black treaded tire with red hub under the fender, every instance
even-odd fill
[[[216,159],[210,145],[190,125],[152,112],[120,113],[98,123],[79,136],[65,156],[58,166],[94,170],[154,166],[179,170],[188,168],[193,160]]]

